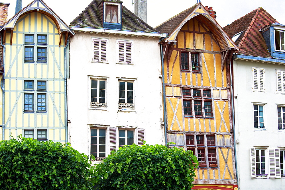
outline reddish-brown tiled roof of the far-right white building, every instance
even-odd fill
[[[265,40],[262,36],[261,28],[277,22],[264,9],[259,7],[251,13],[235,20],[223,29],[230,38],[239,32],[243,32],[235,41],[239,46],[239,54],[258,57],[272,57],[268,51]]]

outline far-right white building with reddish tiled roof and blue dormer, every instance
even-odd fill
[[[258,8],[224,30],[240,47],[232,69],[239,188],[284,189],[285,26]]]

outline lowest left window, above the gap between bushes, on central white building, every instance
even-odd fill
[[[91,155],[106,157],[106,129],[90,129]]]

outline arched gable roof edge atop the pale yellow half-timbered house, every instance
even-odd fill
[[[25,8],[23,8],[16,15],[12,16],[12,18],[10,18],[7,22],[5,22],[1,26],[0,31],[3,30],[4,28],[14,28],[15,23],[22,14],[34,11],[50,16],[54,20],[54,22],[56,22],[59,32],[61,30],[68,31],[72,36],[74,36],[75,33],[71,30],[71,28],[61,18],[59,18],[59,16],[56,13],[54,13],[54,11],[52,11],[52,9],[50,9],[50,7],[48,7],[46,3],[44,3],[44,1],[42,0],[32,1]]]

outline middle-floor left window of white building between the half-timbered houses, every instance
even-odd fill
[[[106,81],[91,80],[91,106],[106,106]]]

